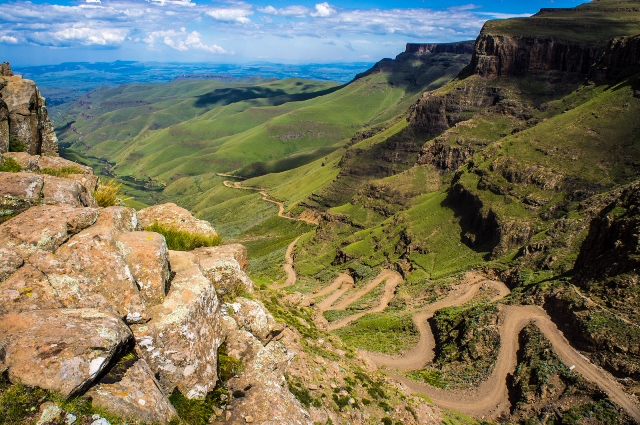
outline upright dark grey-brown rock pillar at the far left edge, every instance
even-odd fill
[[[11,145],[11,146],[10,146]],[[36,84],[0,67],[0,153],[58,156],[58,139]]]

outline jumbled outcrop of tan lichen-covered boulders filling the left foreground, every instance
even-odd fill
[[[77,178],[41,174],[38,164],[69,167],[60,158],[0,157],[25,165],[0,172],[0,199],[25,206],[0,224],[0,373],[65,397],[86,395],[135,423],[168,423],[177,416],[169,396],[205,399],[219,387],[224,343],[246,365],[232,384],[246,396],[222,398],[220,421],[311,424],[286,386],[294,354],[276,341],[284,326],[261,303],[235,295],[253,291],[243,246],[169,250],[142,221],[215,230],[174,204],[139,213],[101,208]]]

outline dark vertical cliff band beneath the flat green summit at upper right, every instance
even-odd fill
[[[485,78],[522,76],[530,71],[587,74],[602,51],[601,47],[551,37],[481,33],[471,67],[474,73]]]

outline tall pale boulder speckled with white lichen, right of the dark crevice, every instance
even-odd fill
[[[218,379],[220,303],[194,254],[169,251],[169,263],[176,274],[164,302],[150,309],[149,323],[132,326],[136,350],[165,394],[177,387],[187,398],[203,399]]]

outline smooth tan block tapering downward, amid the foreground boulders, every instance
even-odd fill
[[[169,251],[164,237],[153,232],[123,233],[116,245],[147,306],[162,304],[169,281]]]

